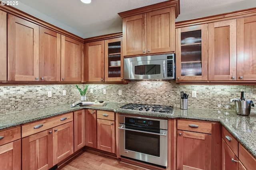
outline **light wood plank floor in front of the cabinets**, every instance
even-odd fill
[[[85,151],[66,162],[58,170],[148,170],[120,162],[118,158],[107,156],[99,152]]]

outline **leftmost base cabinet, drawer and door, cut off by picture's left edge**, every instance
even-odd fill
[[[0,169],[21,170],[20,127],[0,131]]]

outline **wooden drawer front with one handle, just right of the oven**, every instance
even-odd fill
[[[203,121],[178,120],[178,129],[212,134],[212,123]]]

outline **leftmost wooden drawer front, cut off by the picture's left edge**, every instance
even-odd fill
[[[0,131],[0,146],[21,138],[20,126]]]

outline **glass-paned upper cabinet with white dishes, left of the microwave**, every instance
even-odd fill
[[[105,40],[105,81],[123,81],[122,37]]]

